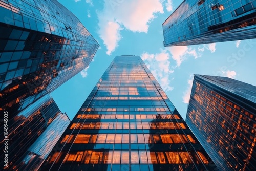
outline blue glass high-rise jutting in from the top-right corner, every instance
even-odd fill
[[[185,0],[163,23],[164,46],[256,38],[255,0]]]

